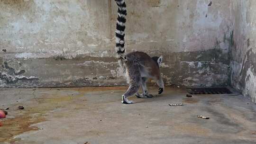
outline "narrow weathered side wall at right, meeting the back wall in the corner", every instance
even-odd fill
[[[256,102],[256,1],[232,0],[231,83]]]

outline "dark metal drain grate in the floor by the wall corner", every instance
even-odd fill
[[[189,88],[188,89],[189,94],[231,94],[232,92],[226,88]]]

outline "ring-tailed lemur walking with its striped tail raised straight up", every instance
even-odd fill
[[[116,26],[116,53],[119,59],[119,65],[126,73],[126,79],[129,84],[128,90],[122,95],[122,103],[131,104],[133,101],[128,100],[129,96],[136,94],[137,98],[150,98],[146,88],[146,81],[152,78],[160,87],[158,93],[164,91],[164,82],[160,75],[159,65],[163,57],[150,57],[143,52],[132,52],[125,54],[125,22],[127,15],[126,3],[124,0],[115,0],[118,5],[118,18]],[[143,94],[140,95],[138,90],[142,86]]]

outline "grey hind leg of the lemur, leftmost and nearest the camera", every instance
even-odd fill
[[[123,104],[131,104],[134,103],[132,100],[128,100],[128,97],[134,95],[139,90],[141,85],[141,76],[139,67],[136,65],[131,65],[127,69],[127,76],[128,76],[128,83],[129,88],[128,90],[122,95],[122,103]]]

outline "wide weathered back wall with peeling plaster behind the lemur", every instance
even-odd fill
[[[126,48],[163,55],[167,85],[227,85],[230,1],[127,0]],[[114,0],[0,0],[0,87],[125,84],[116,17]]]

